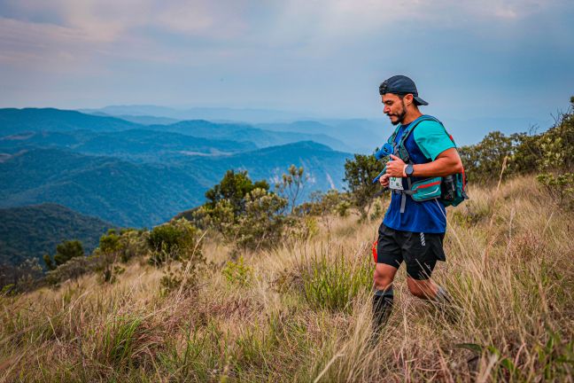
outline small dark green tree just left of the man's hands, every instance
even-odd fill
[[[355,154],[353,160],[345,160],[346,189],[351,193],[353,206],[359,210],[361,220],[368,217],[368,212],[380,191],[380,184],[373,184],[373,179],[383,170],[384,165],[374,155]]]

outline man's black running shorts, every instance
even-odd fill
[[[444,238],[445,233],[396,231],[381,223],[376,243],[376,262],[399,269],[404,260],[408,277],[428,279],[437,261],[446,261]]]

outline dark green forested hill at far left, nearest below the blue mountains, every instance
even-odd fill
[[[0,209],[0,263],[19,264],[33,257],[43,264],[43,254],[54,254],[68,239],[79,239],[89,254],[111,228],[111,223],[52,203]]]

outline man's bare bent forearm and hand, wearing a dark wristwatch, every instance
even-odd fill
[[[405,175],[405,162],[399,157],[391,155],[392,160],[387,162],[388,176],[403,177]],[[462,160],[455,148],[446,149],[438,154],[432,162],[413,166],[413,176],[449,176],[462,173]]]

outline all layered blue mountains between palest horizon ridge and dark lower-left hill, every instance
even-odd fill
[[[144,126],[74,111],[0,109],[0,207],[53,202],[115,225],[151,227],[203,203],[228,169],[274,184],[295,164],[310,176],[305,194],[340,189],[351,154],[325,143],[343,145],[315,132],[243,123]]]

